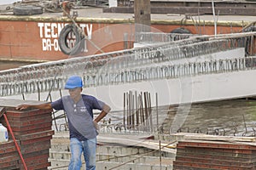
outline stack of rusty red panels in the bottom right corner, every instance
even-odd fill
[[[176,161],[173,161],[174,170],[255,168],[254,142],[183,140],[177,143]]]

